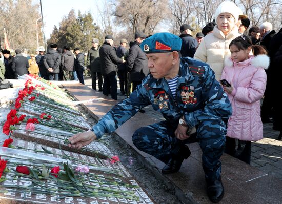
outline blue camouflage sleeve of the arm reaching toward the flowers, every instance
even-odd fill
[[[141,108],[148,106],[150,100],[147,91],[143,85],[137,86],[137,89],[130,94],[130,97],[116,104],[98,123],[93,126],[92,131],[97,138],[102,137],[104,133],[115,131],[127,120],[133,117]]]

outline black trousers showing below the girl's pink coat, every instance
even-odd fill
[[[238,144],[236,145],[236,143]],[[226,137],[224,152],[246,162],[249,165],[251,164],[251,149],[251,141],[242,141],[239,139]]]

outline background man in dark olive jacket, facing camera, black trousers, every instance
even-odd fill
[[[97,90],[96,88],[96,75],[98,77],[98,89],[103,91],[103,76],[102,76],[102,67],[99,54],[100,46],[99,40],[94,38],[92,40],[92,48],[88,51],[87,54],[87,69],[90,69],[91,78],[92,78],[92,89]]]

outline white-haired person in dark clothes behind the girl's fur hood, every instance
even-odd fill
[[[261,36],[261,41],[259,45],[266,48],[266,50],[268,51],[268,56],[270,56],[269,55],[270,49],[271,49],[270,40],[275,35],[275,30],[272,30],[271,23],[265,22],[261,24],[261,26],[259,27],[259,32]],[[260,116],[261,116],[261,120],[263,121],[263,123],[271,123],[272,120],[270,118],[272,115],[271,113],[272,113],[272,108],[273,108],[272,81],[271,81],[269,70],[266,70],[266,74],[267,74],[266,91],[265,91],[263,105],[261,106]]]

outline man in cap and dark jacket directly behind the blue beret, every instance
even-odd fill
[[[140,44],[147,37],[143,32],[135,33],[135,42],[130,47],[128,57],[126,59],[127,71],[132,81],[132,92],[137,85],[142,83],[143,78],[149,74],[148,60],[144,52],[140,49]]]

